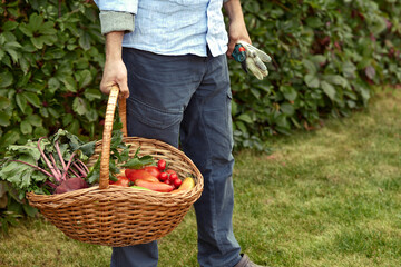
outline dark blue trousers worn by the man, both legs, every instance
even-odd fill
[[[226,56],[160,56],[125,48],[123,59],[130,90],[128,135],[180,145],[205,179],[194,205],[199,265],[235,266],[241,248],[232,226],[234,158]],[[155,267],[157,260],[157,241],[114,248],[111,255],[113,267]]]

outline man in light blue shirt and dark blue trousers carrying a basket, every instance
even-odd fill
[[[155,138],[184,152],[202,171],[196,201],[203,267],[251,267],[233,227],[233,138],[226,55],[251,43],[239,0],[98,0],[106,36],[100,90],[127,98],[129,136]],[[228,43],[228,47],[227,47]],[[264,67],[265,69],[265,67]],[[263,70],[263,76],[267,75]],[[263,78],[263,77],[262,77]],[[157,266],[157,241],[113,248],[111,266]]]

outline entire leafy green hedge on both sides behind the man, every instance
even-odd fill
[[[323,3],[324,2],[324,3]],[[255,46],[273,61],[258,81],[231,62],[237,148],[363,108],[399,83],[395,0],[243,1]],[[104,38],[90,1],[1,1],[0,149],[65,128],[99,138]]]

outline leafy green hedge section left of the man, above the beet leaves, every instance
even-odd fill
[[[88,138],[101,132],[97,8],[87,1],[2,1],[0,13],[1,150],[58,128]]]

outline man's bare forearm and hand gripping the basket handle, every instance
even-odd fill
[[[100,91],[109,95],[110,88],[118,85],[120,97],[128,98],[127,68],[121,58],[123,31],[113,31],[106,34],[106,62],[100,82]]]

